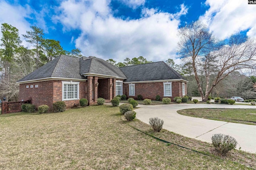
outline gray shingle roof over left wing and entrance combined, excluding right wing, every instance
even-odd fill
[[[104,74],[126,78],[120,68],[113,66],[102,59],[96,57],[82,57],[78,59],[61,55],[17,82],[50,77],[85,79],[85,77],[81,75],[84,73]]]

